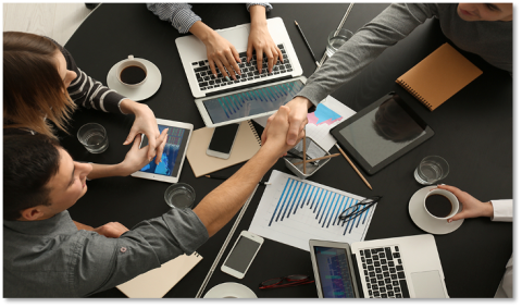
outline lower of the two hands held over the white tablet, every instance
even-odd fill
[[[169,132],[169,128],[163,130],[161,135],[158,138],[154,138],[154,144],[161,147],[162,151],[163,148],[165,147],[166,144],[166,133]],[[139,144],[141,141],[141,135],[137,135],[134,138],[134,144],[130,150],[128,150],[127,155],[125,156],[125,159],[120,163],[120,174],[122,176],[127,176],[145,165],[147,165],[150,160],[148,157],[149,150],[150,150],[150,139],[149,139],[149,145],[146,147],[139,148]],[[156,155],[156,150],[153,150],[152,157]],[[158,155],[160,160],[157,162],[157,164],[161,161],[161,155]]]

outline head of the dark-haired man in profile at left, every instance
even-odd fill
[[[91,170],[48,136],[2,136],[2,219],[44,220],[69,209],[87,192]]]

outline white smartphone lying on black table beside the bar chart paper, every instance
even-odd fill
[[[237,237],[221,270],[237,279],[243,279],[263,242],[263,237],[244,230]]]

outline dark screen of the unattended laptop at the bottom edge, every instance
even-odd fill
[[[324,298],[356,298],[346,249],[314,246]]]

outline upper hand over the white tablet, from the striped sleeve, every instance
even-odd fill
[[[133,127],[125,139],[124,145],[129,145],[136,136],[145,134],[149,139],[150,147],[147,157],[150,160],[156,157],[156,164],[160,163],[161,155],[163,153],[163,147],[161,144],[157,144],[156,139],[160,136],[160,130],[158,128],[158,122],[156,121],[154,112],[145,103],[139,103],[129,99],[122,101],[120,107],[128,113],[134,113],[136,116]]]

